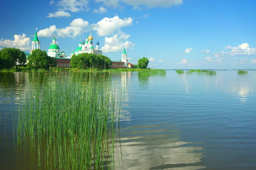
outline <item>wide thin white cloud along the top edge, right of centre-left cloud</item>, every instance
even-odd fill
[[[103,2],[105,6],[117,8],[120,6],[119,2],[131,5],[134,9],[145,8],[168,8],[178,6],[183,3],[183,0],[96,0],[96,2]]]

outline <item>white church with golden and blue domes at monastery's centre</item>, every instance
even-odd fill
[[[84,39],[84,38],[83,38]],[[96,55],[102,55],[102,51],[99,50],[99,40],[96,42],[96,48],[93,47],[93,37],[92,37],[92,32],[90,32],[90,36],[86,38],[86,41],[83,40],[83,42],[79,42],[79,46],[76,48],[76,51],[72,51],[70,54],[70,58],[76,54],[81,54],[81,53],[91,53],[91,54],[96,54]]]

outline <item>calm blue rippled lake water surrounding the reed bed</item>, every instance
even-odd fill
[[[13,169],[15,103],[33,73],[0,73],[0,169]],[[5,77],[5,78],[4,78]],[[23,77],[20,81],[20,77]],[[256,71],[113,74],[122,84],[121,170],[256,169]],[[21,89],[21,91],[20,91]]]

